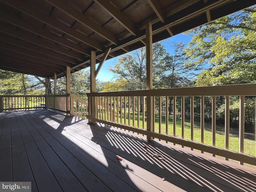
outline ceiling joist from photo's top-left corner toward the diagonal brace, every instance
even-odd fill
[[[43,12],[36,11],[29,4],[21,2],[20,0],[4,0],[3,2],[5,4],[8,4],[9,6],[12,6],[13,8],[15,8],[17,10],[20,10],[21,12],[23,12],[25,14],[28,14],[29,16],[31,16],[37,20],[40,20],[41,22],[44,22],[44,23],[52,26],[53,28],[56,28],[57,30],[60,30],[63,33],[70,35],[71,37],[73,37],[89,46],[96,48],[97,50],[102,51],[102,46],[100,43],[81,34],[80,32],[67,26],[66,24],[59,22],[57,19],[55,19],[51,16],[48,16],[48,15],[44,14]]]

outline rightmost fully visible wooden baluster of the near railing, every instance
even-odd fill
[[[244,96],[240,96],[240,111],[239,111],[239,152],[244,153]],[[244,162],[240,161],[240,165]]]

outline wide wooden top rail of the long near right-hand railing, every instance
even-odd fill
[[[87,96],[256,96],[256,84],[96,92]]]

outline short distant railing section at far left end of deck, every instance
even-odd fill
[[[0,112],[45,108],[44,95],[0,95]]]

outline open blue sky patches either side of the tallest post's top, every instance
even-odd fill
[[[178,34],[171,38],[163,40],[162,44],[165,44],[167,51],[170,54],[172,54],[174,50],[172,49],[171,44],[173,41],[176,41],[176,42],[183,41],[184,43],[188,44],[190,40],[191,40],[191,37],[188,37],[185,34]],[[109,66],[114,66],[117,62],[118,62],[118,57],[105,61],[102,68],[100,69],[100,72],[98,73],[97,79],[105,82],[112,81],[113,78],[115,78],[115,74],[110,72],[108,69],[109,69]],[[96,68],[97,66],[98,65],[96,65]]]

